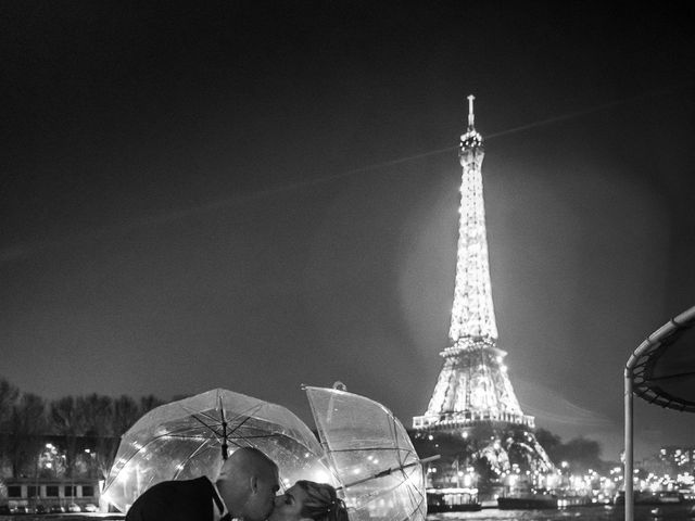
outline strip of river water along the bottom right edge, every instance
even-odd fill
[[[623,521],[624,509],[612,506],[572,507],[565,510],[497,510],[482,509],[478,512],[431,513],[428,521]],[[654,507],[637,505],[635,521],[695,521],[691,505]]]

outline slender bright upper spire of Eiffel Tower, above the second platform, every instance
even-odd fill
[[[460,137],[458,157],[463,167],[456,285],[448,351],[494,346],[497,326],[490,291],[490,265],[485,207],[482,196],[481,165],[485,155],[482,138],[476,131],[473,100],[468,97],[468,129]]]

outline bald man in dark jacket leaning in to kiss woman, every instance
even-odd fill
[[[157,483],[132,504],[126,521],[265,521],[279,490],[277,465],[261,450],[238,448],[215,483],[206,476]]]

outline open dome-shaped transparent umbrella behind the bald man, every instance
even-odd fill
[[[121,511],[167,480],[217,478],[237,447],[256,447],[279,467],[283,485],[299,479],[332,483],[311,429],[279,405],[216,389],[157,407],[124,435],[102,497]]]

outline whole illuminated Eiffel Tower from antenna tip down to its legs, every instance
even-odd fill
[[[519,406],[504,365],[506,352],[497,347],[481,176],[484,150],[475,128],[473,100],[468,97],[468,128],[458,151],[463,182],[450,343],[440,353],[444,365],[427,411],[413,418],[413,428],[476,442],[479,456],[498,475],[515,465],[545,473],[554,466],[535,440],[534,418]]]

